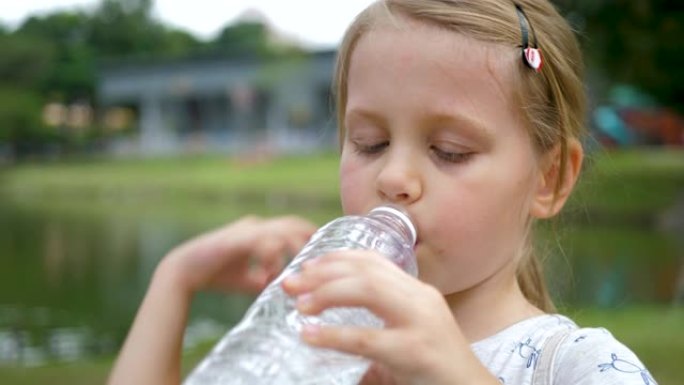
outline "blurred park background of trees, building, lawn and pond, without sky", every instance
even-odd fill
[[[678,384],[684,10],[555,3],[586,55],[591,136],[577,193],[538,229],[549,284],[563,311]],[[152,6],[104,0],[0,25],[2,384],[104,382],[179,242],[245,214],[341,214],[334,48],[306,48],[253,11],[200,39]],[[197,298],[185,370],[250,301]]]

